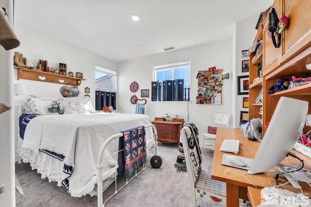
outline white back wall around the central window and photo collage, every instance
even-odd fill
[[[130,103],[130,97],[134,94],[140,98],[141,89],[150,89],[153,80],[153,65],[165,64],[180,60],[190,59],[190,100],[189,103],[189,122],[194,123],[199,133],[207,131],[208,125],[213,125],[213,113],[224,112],[232,113],[232,40],[225,40],[207,45],[196,46],[192,48],[180,49],[165,52],[162,54],[152,55],[145,58],[122,62],[118,64],[119,73],[119,111],[125,113],[135,113],[135,105]],[[224,71],[230,72],[230,79],[224,80],[222,89],[222,105],[204,105],[196,104],[196,95],[198,81],[196,75],[200,70],[207,70],[209,67],[223,68]],[[139,89],[136,93],[130,91],[130,84],[137,81]],[[187,102],[186,101],[151,101],[147,98],[145,113],[152,120],[160,117],[161,114],[172,113],[178,114],[178,117],[187,121]],[[229,125],[232,127],[232,118]]]

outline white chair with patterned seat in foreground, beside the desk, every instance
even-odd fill
[[[193,152],[193,149],[198,149],[195,150],[199,154],[197,157],[201,157],[198,138],[196,135],[193,135],[189,125],[180,130],[180,138],[190,184],[191,207],[198,207],[201,198],[208,198],[213,202],[225,206],[225,183],[211,179],[211,172],[201,169],[201,163],[195,159],[196,153]],[[196,145],[196,147],[193,145]]]

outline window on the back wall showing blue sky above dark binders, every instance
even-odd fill
[[[190,60],[154,66],[154,81],[184,80],[184,88],[190,85]]]

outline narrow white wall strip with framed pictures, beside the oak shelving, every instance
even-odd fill
[[[239,127],[240,125],[240,111],[248,111],[248,108],[243,108],[243,98],[242,97],[248,97],[248,95],[237,95],[238,89],[237,89],[237,76],[245,76],[249,75],[249,73],[243,72],[242,73],[242,60],[248,60],[249,58],[241,58],[241,51],[244,49],[248,49],[251,44],[253,38],[257,34],[257,30],[255,29],[257,21],[258,21],[259,15],[252,16],[250,18],[244,19],[240,22],[237,22],[235,24],[235,48],[233,50],[233,54],[235,55],[234,61],[235,63],[233,66],[236,68],[235,72],[235,86],[233,86],[235,94],[235,111],[234,111],[234,126]],[[251,118],[251,117],[250,117]]]

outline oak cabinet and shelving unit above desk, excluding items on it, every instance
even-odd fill
[[[289,16],[288,28],[282,32],[282,41],[279,48],[275,48],[271,38],[268,38],[268,18],[263,22],[255,40],[263,39],[262,56],[262,78],[249,86],[249,119],[260,117],[259,109],[262,106],[262,123],[270,122],[276,109],[276,105],[281,96],[288,96],[296,99],[309,101],[308,113],[311,113],[311,83],[301,85],[292,89],[276,92],[272,95],[267,94],[268,89],[276,84],[278,78],[293,80],[296,77],[311,77],[311,70],[306,69],[306,64],[311,63],[311,13],[306,8],[311,7],[311,1],[306,0],[275,0],[272,5],[276,9],[277,16]],[[271,10],[270,10],[271,11]],[[269,11],[269,12],[270,12]],[[301,30],[301,25],[306,30]],[[250,60],[254,58],[250,53]],[[257,78],[255,66],[260,58],[254,58],[250,64],[250,82]],[[262,104],[256,104],[256,98],[260,90],[263,90]],[[289,109],[291,110],[291,109]],[[311,127],[304,128],[309,131]],[[263,134],[265,128],[263,127]]]

